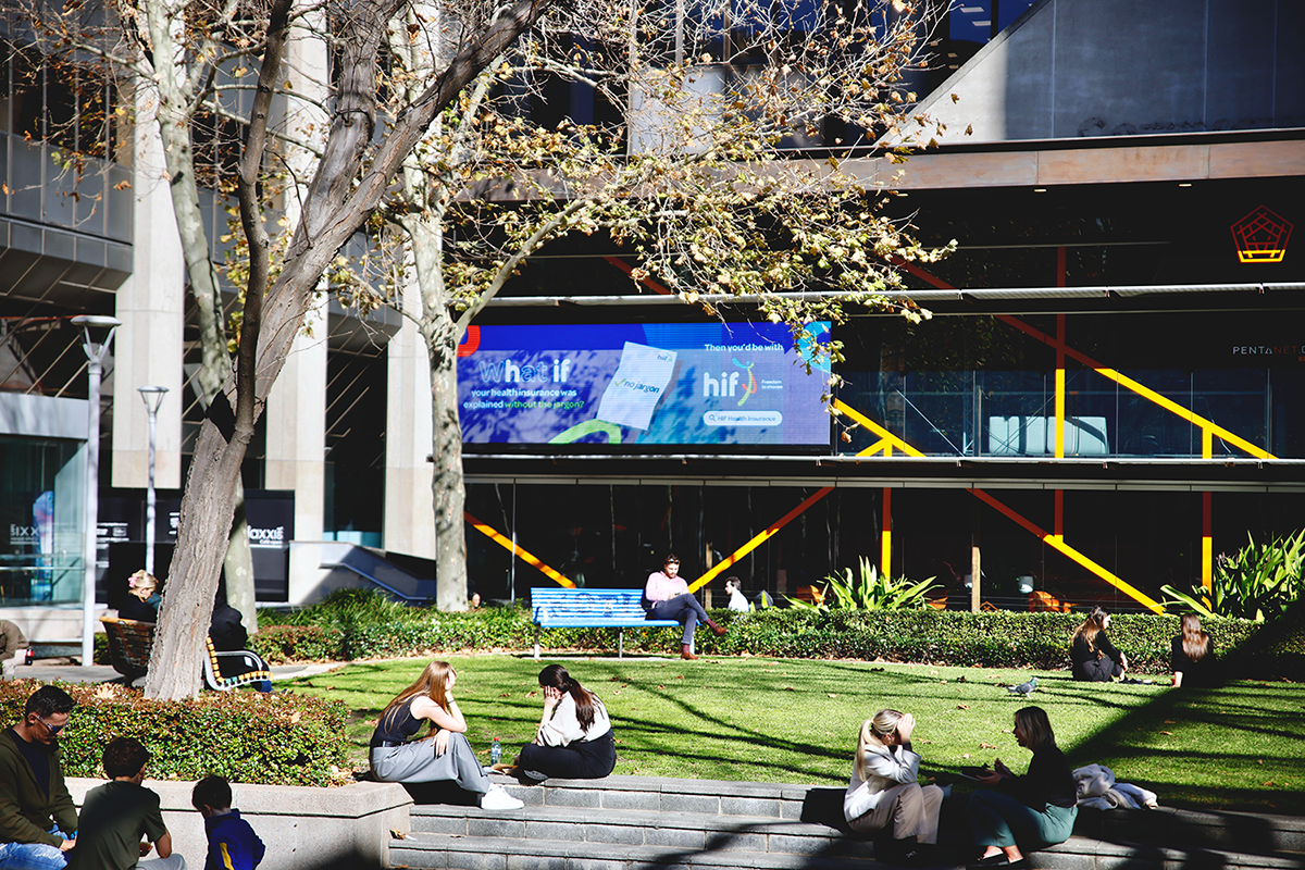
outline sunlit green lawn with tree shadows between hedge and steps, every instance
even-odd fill
[[[510,655],[450,656],[472,746],[488,763],[534,737],[542,664]],[[367,764],[376,717],[425,659],[354,664],[291,682],[352,711],[351,758]],[[1100,763],[1160,803],[1305,814],[1305,686],[1236,682],[1223,689],[1075,683],[1067,672],[762,657],[594,657],[565,661],[612,716],[617,773],[843,785],[860,723],[882,707],[917,719],[923,772],[957,780],[963,764],[1028,762],[1010,733],[1024,703],[1047,710],[1075,767]],[[1036,673],[1028,702],[1005,686]],[[966,780],[958,781],[963,789]]]

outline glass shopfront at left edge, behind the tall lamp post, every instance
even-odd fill
[[[0,607],[81,601],[82,445],[0,437]]]

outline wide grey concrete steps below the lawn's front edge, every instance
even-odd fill
[[[843,790],[778,783],[612,776],[522,787],[521,810],[422,803],[394,866],[449,870],[872,870],[874,847],[847,831]],[[963,863],[962,826],[944,815],[940,867]],[[947,836],[947,832],[951,832]],[[1161,807],[1082,810],[1075,836],[1030,856],[1035,870],[1305,869],[1305,819]]]

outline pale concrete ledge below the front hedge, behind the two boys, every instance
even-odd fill
[[[104,780],[69,777],[81,809],[86,792]],[[172,849],[192,867],[204,866],[204,819],[191,806],[194,783],[146,780],[158,792]],[[351,783],[341,788],[232,785],[240,815],[268,847],[260,870],[317,870],[389,866],[390,831],[408,832],[412,798],[393,783]]]

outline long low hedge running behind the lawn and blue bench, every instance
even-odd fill
[[[291,661],[436,651],[521,651],[534,644],[535,629],[529,609],[523,607],[491,607],[465,613],[410,608],[377,612],[375,616],[378,621],[341,621],[331,618],[329,608],[316,614],[313,608],[307,608],[292,617],[300,625],[269,625],[254,635],[252,646],[273,661]],[[260,617],[265,622],[277,618],[274,613]],[[321,618],[326,625],[303,625],[313,618]],[[822,613],[775,608],[748,614],[715,610],[714,618],[728,625],[729,633],[718,638],[699,631],[699,653],[1057,669],[1069,667],[1070,637],[1083,616],[934,609]],[[1212,618],[1205,621],[1205,627],[1214,637],[1220,656],[1231,659],[1229,664],[1244,669],[1245,676],[1305,680],[1305,630],[1298,626],[1285,633],[1275,629],[1275,634],[1283,637],[1257,646],[1253,661],[1229,653],[1254,637],[1261,626],[1242,620]],[[1111,639],[1129,656],[1130,669],[1151,674],[1168,673],[1169,640],[1177,633],[1177,616],[1151,613],[1113,616],[1109,630]],[[616,646],[616,633],[608,629],[549,629],[543,631],[540,643],[545,650],[607,652]],[[643,652],[679,652],[680,629],[626,629],[625,647]]]

